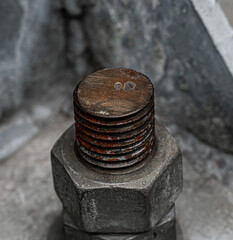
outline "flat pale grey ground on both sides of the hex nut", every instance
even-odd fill
[[[61,204],[53,190],[50,149],[72,122],[63,116],[54,117],[23,149],[0,163],[0,239],[63,238]],[[184,191],[177,201],[183,240],[232,240],[233,188],[195,167],[194,162],[200,160],[198,154],[192,154],[193,145],[199,149],[206,149],[207,145],[174,126],[169,129],[184,155]],[[192,142],[187,141],[190,136]]]

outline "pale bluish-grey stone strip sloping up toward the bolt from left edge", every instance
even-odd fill
[[[16,115],[2,121],[0,124],[0,161],[7,160],[24,147],[39,133],[52,115],[58,112],[68,115],[67,91],[72,92],[72,88],[69,86],[64,88],[63,84],[57,85],[39,102],[35,99],[30,101],[27,108],[21,109]]]

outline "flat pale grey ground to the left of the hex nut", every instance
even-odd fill
[[[49,151],[69,124],[71,120],[52,119],[49,128],[1,162],[0,239],[47,239],[50,226],[61,211],[53,190]]]

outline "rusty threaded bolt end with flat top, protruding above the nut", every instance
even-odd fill
[[[142,73],[108,68],[90,74],[74,90],[77,149],[102,168],[145,159],[154,144],[154,91]]]

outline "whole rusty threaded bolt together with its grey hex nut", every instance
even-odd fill
[[[142,73],[104,69],[73,93],[75,124],[51,151],[66,240],[173,240],[182,160]]]

